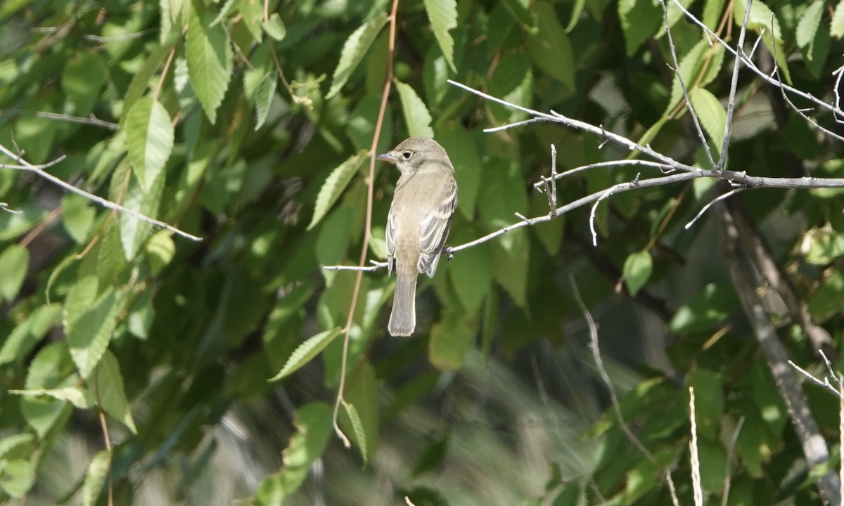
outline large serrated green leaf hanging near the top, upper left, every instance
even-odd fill
[[[212,124],[217,121],[217,108],[229,88],[233,57],[229,37],[222,26],[210,26],[213,21],[210,12],[192,12],[185,43],[191,87]]]

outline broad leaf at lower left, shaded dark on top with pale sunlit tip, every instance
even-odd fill
[[[106,288],[100,298],[93,300],[96,288],[95,277],[84,277],[71,288],[64,304],[70,356],[83,379],[88,378],[106,352],[120,312],[114,288]]]

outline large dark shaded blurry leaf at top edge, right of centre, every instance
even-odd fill
[[[569,37],[565,35],[553,5],[539,2],[533,7],[533,13],[539,30],[527,37],[527,52],[544,73],[560,81],[565,92],[571,94],[575,89],[575,57]]]

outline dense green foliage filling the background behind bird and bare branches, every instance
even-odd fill
[[[734,44],[743,5],[682,3]],[[748,47],[763,30],[767,38],[755,61],[766,72],[777,62],[784,80],[830,102],[844,35],[838,7],[756,0]],[[356,292],[354,273],[321,269],[358,261],[370,183],[366,256],[384,257],[397,175],[377,165],[368,180],[366,164],[391,58],[390,8],[386,0],[0,5],[0,144],[32,164],[64,156],[51,174],[203,238],[114,213],[33,170],[0,169],[0,202],[14,212],[0,211],[4,497],[670,504],[668,470],[679,502],[692,503],[693,385],[709,503],[820,503],[819,471],[806,465],[738,304],[717,222],[705,214],[684,229],[717,196],[714,180],[606,199],[597,247],[582,208],[457,252],[420,283],[408,340],[387,336],[384,272],[366,274]],[[733,59],[673,4],[668,19],[716,148]],[[460,188],[450,245],[514,223],[514,213],[548,213],[531,186],[549,174],[551,143],[560,171],[630,153],[557,125],[484,133],[527,116],[446,78],[706,164],[659,3],[406,0],[397,20],[376,152],[422,133],[450,153]],[[743,72],[736,102],[729,168],[844,174],[839,143],[789,109],[775,86]],[[829,115],[816,119],[840,130]],[[639,171],[571,176],[560,202]],[[733,201],[835,357],[841,191],[746,191]],[[572,280],[598,321],[612,385],[595,368]],[[354,408],[340,417],[354,449],[344,449],[332,428],[344,339],[335,329],[346,326],[355,293],[344,390]],[[766,283],[759,293],[790,358],[817,363],[782,293]],[[326,347],[278,379],[311,336]],[[652,458],[608,409],[609,387]],[[814,386],[805,395],[837,456],[835,397]]]

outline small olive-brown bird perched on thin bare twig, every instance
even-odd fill
[[[410,137],[376,158],[402,173],[387,216],[387,272],[395,268],[397,278],[387,328],[392,336],[409,336],[416,327],[416,277],[436,272],[457,208],[457,181],[446,150],[430,137]]]

